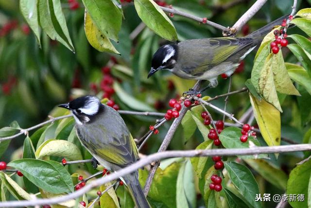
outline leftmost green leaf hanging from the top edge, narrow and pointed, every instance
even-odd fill
[[[37,0],[19,0],[19,9],[29,27],[35,33],[35,37],[38,41],[39,47],[41,48]]]

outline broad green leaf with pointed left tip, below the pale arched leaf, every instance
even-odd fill
[[[52,160],[20,159],[8,163],[23,173],[37,187],[51,193],[73,192],[73,183],[68,171],[59,162]]]

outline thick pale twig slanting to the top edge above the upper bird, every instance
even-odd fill
[[[251,8],[249,8],[241,17],[240,19],[232,26],[231,32],[233,34],[237,33],[241,30],[243,25],[248,22],[258,11],[259,9],[266,3],[267,0],[257,0]],[[230,35],[230,34],[227,34]]]

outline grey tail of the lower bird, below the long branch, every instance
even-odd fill
[[[138,172],[124,176],[125,183],[134,200],[136,208],[151,208],[150,204],[142,191],[139,181]]]

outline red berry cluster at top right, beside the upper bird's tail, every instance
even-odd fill
[[[292,20],[293,16],[289,16],[289,19]],[[287,23],[287,20],[283,19],[281,26],[285,27],[286,23]],[[286,47],[288,45],[288,40],[286,39],[287,34],[284,29],[280,29],[279,31],[275,30],[274,34],[275,34],[276,39],[275,41],[271,42],[270,47],[271,47],[271,51],[274,54],[277,54],[278,51],[280,50],[279,46]]]

